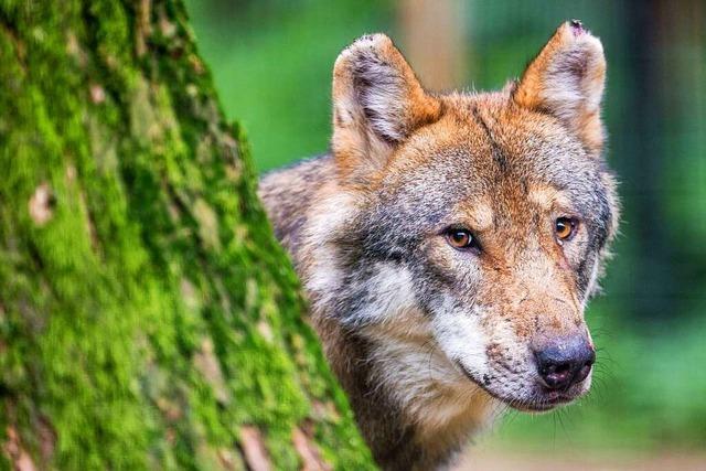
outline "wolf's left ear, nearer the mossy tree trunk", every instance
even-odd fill
[[[437,120],[440,108],[389,38],[363,36],[333,68],[336,160],[357,174],[379,168],[415,129]]]

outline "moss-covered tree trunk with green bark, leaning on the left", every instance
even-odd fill
[[[371,468],[180,1],[0,2],[0,445]]]

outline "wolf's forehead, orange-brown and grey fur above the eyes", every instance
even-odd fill
[[[410,236],[454,215],[483,229],[564,211],[591,225],[602,245],[613,218],[612,176],[602,159],[553,117],[520,108],[504,94],[443,99],[441,118],[410,136],[363,189],[377,208],[372,218]]]

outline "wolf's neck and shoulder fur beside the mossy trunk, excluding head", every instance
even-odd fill
[[[334,182],[333,159],[324,156],[267,175],[259,195],[304,282],[328,360],[375,458],[386,469],[437,468],[498,404],[434,346],[404,274],[383,264],[376,279],[364,280],[339,266],[330,235],[352,218],[355,202]],[[381,296],[351,312],[343,297],[362,298],[351,291],[356,282],[372,282]]]

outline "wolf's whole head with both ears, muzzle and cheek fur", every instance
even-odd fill
[[[419,345],[420,372],[431,349],[453,387],[520,409],[585,394],[595,350],[584,309],[618,218],[605,73],[600,41],[578,22],[493,94],[427,93],[382,34],[343,51],[338,192],[308,270],[314,307],[334,306],[383,345]]]

